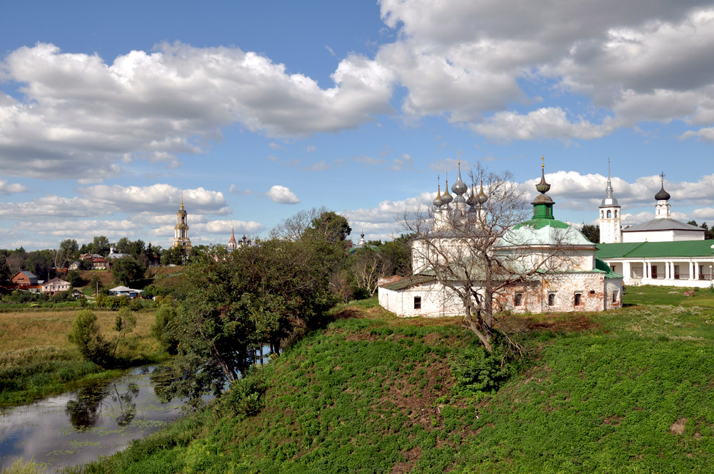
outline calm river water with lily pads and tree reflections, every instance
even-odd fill
[[[181,415],[181,400],[161,403],[139,368],[119,380],[0,413],[0,469],[34,458],[54,473],[126,448]]]

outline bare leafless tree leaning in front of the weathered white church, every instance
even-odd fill
[[[459,182],[465,187],[461,173]],[[544,177],[541,185],[539,191],[548,191]],[[545,191],[536,198],[543,209],[535,205],[536,201],[533,204],[538,212],[550,209],[552,219],[553,201]],[[468,200],[458,196],[451,204],[448,191],[444,196],[448,196],[446,204],[403,220],[406,230],[416,236],[412,241],[413,271],[433,276],[444,287],[447,298],[453,297],[463,305],[464,326],[491,352],[499,328],[494,306],[512,293],[514,285],[528,288],[535,276],[568,266],[568,252],[559,244],[565,241],[568,229],[560,232],[549,227],[548,238],[542,242],[532,228],[519,229],[517,224],[526,221],[528,207],[523,188],[513,181],[511,173],[489,173],[477,166],[471,173]],[[435,200],[435,204],[441,202]],[[511,349],[523,351],[503,328],[501,333]]]

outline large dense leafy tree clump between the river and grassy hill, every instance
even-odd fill
[[[233,382],[263,342],[306,331],[334,303],[323,251],[328,243],[271,239],[203,254],[188,267],[191,291],[166,332],[178,341],[169,391],[198,397]]]

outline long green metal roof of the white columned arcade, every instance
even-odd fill
[[[598,243],[598,258],[711,257],[714,241]]]

